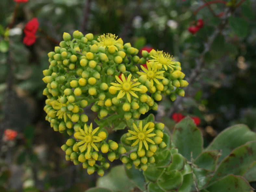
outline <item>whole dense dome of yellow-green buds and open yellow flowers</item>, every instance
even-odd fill
[[[67,132],[73,138],[61,148],[66,160],[83,164],[89,174],[109,168],[109,161],[119,159],[131,168],[146,170],[155,162],[158,148],[166,147],[163,141],[163,123],[154,119],[139,120],[141,114],[158,109],[162,95],[184,96],[180,63],[163,51],[149,53],[130,43],[123,44],[114,34],[94,38],[92,33],[63,34],[60,46],[48,53],[50,66],[43,71],[47,84],[43,95],[46,120],[54,131]],[[95,122],[88,124],[84,108],[97,112]],[[108,130],[125,129],[122,143],[108,140]]]

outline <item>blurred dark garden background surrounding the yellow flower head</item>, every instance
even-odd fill
[[[65,160],[60,146],[68,135],[54,132],[45,121],[42,70],[49,65],[47,53],[58,46],[49,37],[59,42],[63,32],[110,32],[138,49],[147,45],[164,50],[181,62],[187,79],[202,57],[203,65],[185,97],[174,102],[165,98],[159,103],[157,121],[172,129],[173,113],[198,116],[205,146],[225,127],[236,123],[245,123],[256,131],[256,2],[242,1],[228,16],[223,3],[197,11],[206,2],[29,0],[19,4],[15,23],[6,31],[16,2],[1,0],[0,136],[5,129],[17,131],[18,136],[1,141],[0,191],[85,191],[95,186],[96,174],[89,177],[82,167]],[[36,43],[26,46],[22,43],[23,28],[34,17],[41,31]],[[224,17],[224,29],[204,52]],[[188,28],[198,19],[205,24],[191,34]],[[91,121],[96,117],[88,116]],[[118,136],[113,133],[112,137]]]

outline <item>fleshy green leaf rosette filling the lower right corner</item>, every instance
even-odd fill
[[[171,135],[167,136],[171,140]],[[126,169],[127,182],[129,178],[141,191],[148,192],[252,190],[248,181],[256,181],[256,137],[247,126],[235,125],[227,128],[203,150],[201,133],[187,117],[176,124],[172,138],[172,147],[158,151],[154,155],[156,162],[150,164],[143,174],[134,167]],[[113,168],[105,176],[112,181],[116,179],[114,169],[116,174],[123,173],[121,166]],[[104,177],[100,178],[100,181],[102,179]],[[110,189],[118,191],[115,187],[119,184],[111,185],[115,186],[111,186]]]

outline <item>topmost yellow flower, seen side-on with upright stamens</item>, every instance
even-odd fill
[[[117,37],[118,36],[111,33],[100,35],[98,37],[98,46],[103,46],[104,48],[106,48],[113,45],[115,47],[115,50],[118,51],[118,48],[122,47],[122,39],[117,39]]]

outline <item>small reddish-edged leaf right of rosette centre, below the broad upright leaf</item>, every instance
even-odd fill
[[[221,152],[218,150],[205,151],[198,156],[195,164],[202,169],[214,171],[220,155]]]

